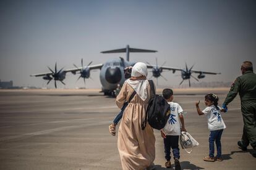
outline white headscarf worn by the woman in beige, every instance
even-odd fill
[[[134,67],[132,67],[132,77],[140,77],[148,75],[148,68],[145,63],[137,62],[135,63]],[[132,88],[136,91],[136,93],[140,96],[140,98],[145,101],[148,97],[147,94],[147,86],[148,81],[147,79],[137,79],[137,80],[130,80],[127,79],[127,83],[132,86]]]

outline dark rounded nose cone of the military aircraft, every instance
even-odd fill
[[[107,68],[105,78],[106,78],[106,81],[108,81],[108,83],[111,83],[111,84],[119,83],[119,81],[121,81],[121,78],[122,78],[122,73],[120,68],[118,67]]]

